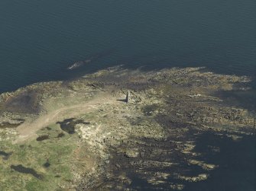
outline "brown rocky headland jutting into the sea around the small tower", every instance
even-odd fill
[[[40,190],[47,183],[51,190],[190,190],[214,183],[223,168],[219,156],[229,150],[219,142],[232,150],[232,144],[254,137],[256,127],[254,113],[218,94],[248,91],[249,82],[246,76],[205,68],[142,72],[115,67],[76,81],[37,83],[1,94],[0,150],[13,153],[1,165],[8,179],[18,177],[22,183],[11,185],[5,178],[0,185],[3,190]],[[43,135],[47,138],[37,142]],[[63,145],[69,152],[55,158],[52,152],[62,154]],[[33,147],[42,149],[50,167],[42,167],[36,157],[22,160]],[[21,164],[45,178],[10,170]]]

